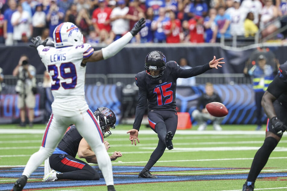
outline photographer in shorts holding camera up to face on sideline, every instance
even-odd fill
[[[28,108],[29,126],[33,126],[34,108],[36,105],[36,68],[29,64],[29,58],[21,55],[13,76],[18,77],[15,91],[18,94],[17,106],[20,109],[20,127],[26,127],[26,108]]]

